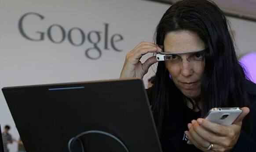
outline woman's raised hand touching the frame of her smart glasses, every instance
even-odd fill
[[[162,49],[151,42],[140,42],[134,49],[126,54],[120,78],[143,78],[149,67],[157,62],[155,56],[149,57],[143,64],[140,58],[146,53],[158,53]]]

